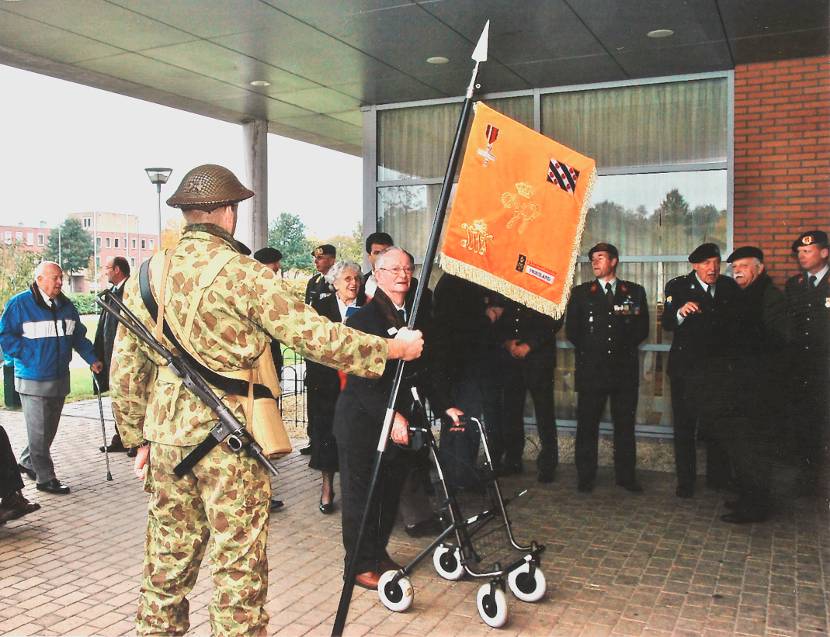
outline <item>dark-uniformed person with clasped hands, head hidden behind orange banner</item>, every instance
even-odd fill
[[[559,465],[559,443],[553,400],[556,369],[556,333],[562,319],[507,301],[497,330],[504,347],[504,414],[501,435],[490,436],[494,462],[501,461],[502,475],[520,473],[524,454],[524,406],[530,392],[541,449],[536,458],[539,482],[553,482]],[[502,459],[503,456],[503,459]]]

